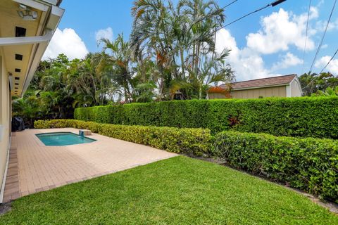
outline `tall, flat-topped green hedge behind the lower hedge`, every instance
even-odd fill
[[[75,119],[338,139],[338,98],[167,101],[75,109]]]

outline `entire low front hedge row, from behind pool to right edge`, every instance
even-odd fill
[[[99,124],[80,120],[39,120],[35,128],[74,127],[173,153],[208,154],[252,174],[287,182],[294,188],[338,203],[338,141],[208,129],[177,129]]]

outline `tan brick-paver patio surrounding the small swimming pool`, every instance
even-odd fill
[[[136,143],[99,134],[92,143],[44,146],[35,134],[78,129],[27,129],[13,133],[4,202],[51,188],[174,157]]]

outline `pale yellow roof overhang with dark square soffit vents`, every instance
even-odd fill
[[[23,96],[27,90],[64,13],[57,6],[59,3],[58,0],[1,0],[0,52],[8,75],[13,79],[12,95]],[[35,11],[37,18],[21,18],[18,15],[20,4]],[[25,35],[18,35],[18,27],[25,30]]]

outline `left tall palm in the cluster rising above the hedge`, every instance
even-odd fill
[[[130,34],[131,56],[138,63],[149,57],[156,62],[160,75],[160,98],[168,97],[170,82],[179,77],[171,25],[173,15],[161,0],[134,1],[132,15],[134,22]]]

